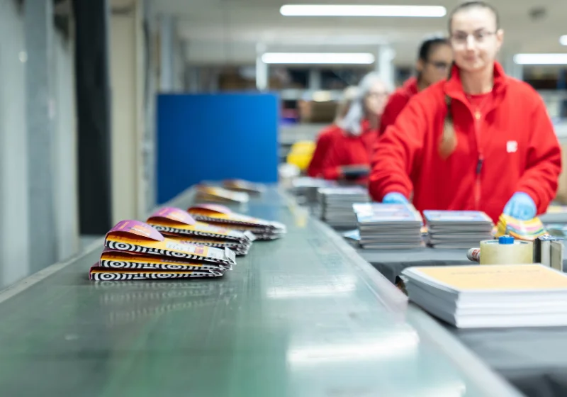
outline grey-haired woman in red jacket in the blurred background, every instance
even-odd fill
[[[325,179],[366,181],[371,150],[390,90],[375,73],[366,74],[358,86],[347,115],[339,121],[340,133],[332,140],[322,162]]]

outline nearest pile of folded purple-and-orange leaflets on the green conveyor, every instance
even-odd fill
[[[95,281],[191,279],[223,276],[236,264],[228,248],[167,238],[147,223],[123,220],[104,239],[101,259],[89,271]]]

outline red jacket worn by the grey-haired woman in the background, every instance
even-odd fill
[[[341,167],[344,165],[370,166],[371,150],[378,138],[376,130],[372,130],[368,121],[363,121],[361,135],[350,135],[337,126],[337,135],[322,162],[322,176],[325,179],[342,177]],[[359,181],[366,181],[362,178]]]

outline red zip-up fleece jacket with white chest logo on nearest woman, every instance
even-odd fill
[[[498,221],[512,194],[523,191],[546,211],[557,190],[561,149],[544,101],[495,63],[493,101],[475,123],[459,69],[417,94],[376,142],[371,196],[398,191],[420,210],[481,210]],[[452,99],[457,145],[443,160],[438,146]]]

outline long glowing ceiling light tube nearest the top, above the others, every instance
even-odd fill
[[[323,4],[286,4],[283,16],[412,16],[439,18],[447,14],[443,6],[335,6]]]

